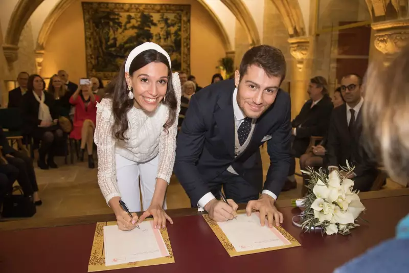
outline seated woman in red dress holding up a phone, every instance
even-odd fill
[[[75,105],[74,129],[70,138],[81,140],[80,159],[84,160],[85,146],[88,152],[88,167],[95,168],[93,148],[94,130],[97,123],[97,102],[101,99],[94,95],[91,83],[81,84],[80,88],[70,98],[70,103]]]

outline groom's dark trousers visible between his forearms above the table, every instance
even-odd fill
[[[238,204],[259,199],[259,191],[263,188],[262,184],[263,181],[250,183],[240,175],[233,174],[228,170],[208,181],[210,191],[217,199],[220,199],[220,191],[223,187],[226,198],[233,199]],[[192,207],[197,207],[197,204],[192,204]]]

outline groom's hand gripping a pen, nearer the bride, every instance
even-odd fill
[[[236,216],[236,211],[239,206],[232,199],[228,199],[227,201],[229,204],[213,199],[206,204],[204,209],[209,213],[210,218],[216,222],[232,220],[234,216]]]

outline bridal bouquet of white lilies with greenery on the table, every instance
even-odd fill
[[[310,176],[308,195],[303,200],[304,214],[301,216],[301,226],[306,232],[322,229],[327,235],[347,235],[359,224],[355,223],[359,214],[365,210],[358,197],[358,191],[352,191],[354,181],[348,179],[353,172],[347,161],[347,168],[342,172],[332,171],[328,176],[320,168],[318,172],[309,168],[302,171]]]

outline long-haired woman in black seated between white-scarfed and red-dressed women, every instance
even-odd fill
[[[66,89],[65,84],[62,83],[57,74],[50,78],[47,92],[54,96],[55,106],[58,109],[59,115],[68,117],[71,109],[70,97],[72,94]]]

